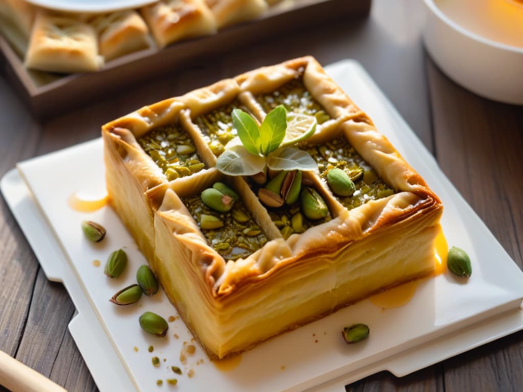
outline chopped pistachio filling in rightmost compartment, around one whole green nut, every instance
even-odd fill
[[[329,170],[344,170],[353,180],[355,192],[349,197],[336,196],[348,210],[356,208],[369,200],[388,197],[396,191],[386,185],[374,170],[341,136],[327,143],[302,147],[317,162],[320,177],[327,179]]]

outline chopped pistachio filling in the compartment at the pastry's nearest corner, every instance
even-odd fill
[[[236,201],[227,212],[211,209],[202,202],[200,195],[182,201],[209,245],[225,259],[245,258],[267,243],[267,237],[241,200]]]

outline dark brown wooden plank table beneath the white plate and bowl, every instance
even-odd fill
[[[119,96],[46,122],[32,119],[0,74],[0,177],[20,160],[98,137],[100,124],[146,103],[223,77],[305,54],[324,65],[353,58],[521,268],[523,107],[480,98],[453,83],[424,51],[422,27],[419,0],[374,0],[367,20],[309,26],[219,59],[195,61],[172,75],[129,86]],[[97,390],[67,330],[74,312],[64,287],[46,279],[0,201],[0,350],[69,391]],[[522,369],[523,332],[518,332],[403,378],[381,372],[347,390],[516,391],[523,388]]]

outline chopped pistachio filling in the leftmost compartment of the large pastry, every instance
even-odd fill
[[[169,181],[190,176],[206,167],[191,137],[178,125],[153,129],[139,137],[138,143]]]

